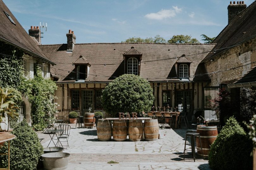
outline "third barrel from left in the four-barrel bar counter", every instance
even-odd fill
[[[143,126],[141,119],[129,120],[128,134],[130,141],[140,141],[143,137]]]

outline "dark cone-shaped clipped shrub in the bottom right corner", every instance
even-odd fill
[[[252,169],[252,141],[232,116],[210,147],[209,165],[217,170]]]

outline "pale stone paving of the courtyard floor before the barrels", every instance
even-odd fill
[[[70,130],[68,150],[70,153],[68,169],[203,169],[210,170],[208,160],[191,151],[183,160],[186,129],[160,129],[161,139],[156,141],[98,141],[97,130],[74,128]],[[50,142],[49,134],[38,133],[44,147]],[[128,139],[128,136],[127,136]],[[189,143],[188,143],[189,144]],[[54,146],[53,143],[49,145]],[[108,164],[108,161],[119,163]]]

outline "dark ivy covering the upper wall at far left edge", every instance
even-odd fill
[[[22,50],[2,41],[0,41],[0,49],[0,87],[17,88],[23,75],[22,56],[24,53]]]

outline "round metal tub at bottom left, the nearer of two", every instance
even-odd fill
[[[68,167],[69,153],[65,152],[51,152],[45,153],[42,156],[44,169],[46,170],[62,170]]]

